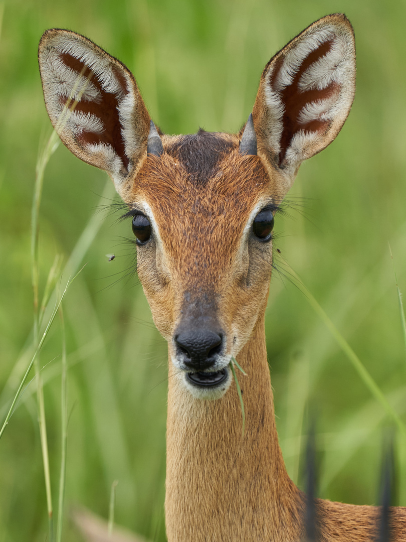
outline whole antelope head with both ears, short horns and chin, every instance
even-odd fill
[[[174,377],[195,397],[221,397],[266,306],[278,206],[350,111],[351,24],[324,17],[274,55],[237,134],[163,135],[129,70],[71,31],[45,32],[39,62],[63,143],[107,171],[128,205],[137,273]]]

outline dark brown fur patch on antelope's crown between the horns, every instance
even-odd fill
[[[191,182],[200,184],[215,175],[219,160],[234,146],[226,134],[200,129],[196,134],[181,135],[169,141],[165,151],[179,160]]]

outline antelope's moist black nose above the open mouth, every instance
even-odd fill
[[[202,371],[216,362],[222,335],[206,330],[184,331],[176,335],[175,341],[185,365]]]

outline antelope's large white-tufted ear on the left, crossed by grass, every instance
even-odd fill
[[[68,149],[112,177],[117,191],[145,156],[148,111],[133,75],[87,38],[47,30],[38,60],[45,106]]]

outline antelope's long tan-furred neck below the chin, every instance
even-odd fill
[[[217,401],[195,399],[169,363],[166,526],[168,542],[290,540],[302,494],[286,473],[276,431],[264,314],[237,357],[235,385]],[[299,539],[299,538],[297,538]]]

